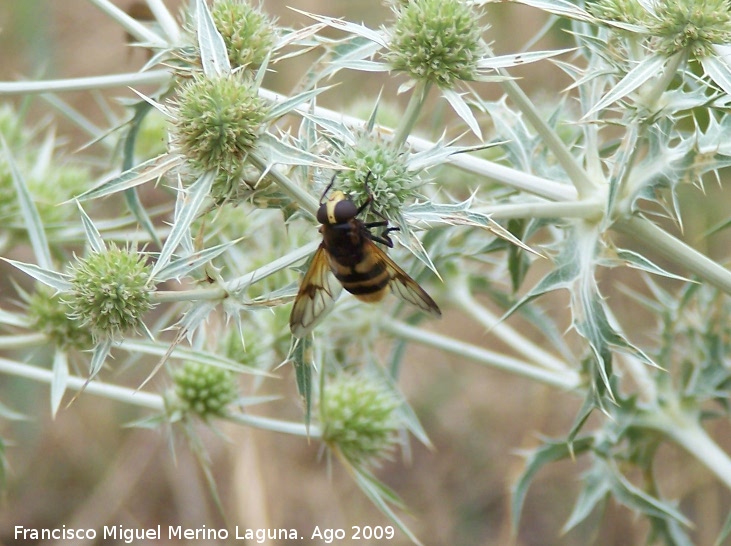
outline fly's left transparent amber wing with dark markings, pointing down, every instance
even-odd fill
[[[330,272],[327,251],[320,245],[294,299],[292,314],[289,316],[292,334],[295,337],[309,334],[330,312],[342,289]]]

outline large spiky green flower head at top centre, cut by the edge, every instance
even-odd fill
[[[485,48],[479,14],[461,0],[413,0],[397,9],[386,61],[415,80],[452,88],[473,80]]]

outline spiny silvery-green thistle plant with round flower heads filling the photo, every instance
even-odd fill
[[[60,157],[55,129],[0,109],[0,245],[13,272],[0,292],[0,373],[50,383],[54,415],[68,391],[83,391],[145,408],[147,425],[185,421],[189,439],[187,418],[200,417],[321,442],[418,544],[378,478],[409,435],[431,445],[399,390],[413,344],[448,355],[456,376],[470,360],[577,398],[573,424],[524,451],[520,476],[505,483],[514,533],[539,472],[561,460],[581,463],[566,537],[596,526],[611,502],[644,518],[647,542],[691,544],[705,529],[666,492],[658,461],[661,447],[677,446],[731,488],[731,456],[708,426],[731,409],[731,271],[684,231],[687,219],[708,219],[703,240],[715,240],[729,225],[726,0],[517,0],[545,16],[548,36],[572,43],[538,50],[541,35],[527,48],[497,44],[516,49],[502,55],[488,2],[390,2],[373,27],[300,12],[311,23],[296,28],[244,0],[191,1],[178,19],[149,0],[154,24],[90,2],[150,56],[137,73],[0,83],[5,96],[53,97],[93,143]],[[298,80],[285,84],[278,71],[293,72],[293,59]],[[528,65],[521,79],[511,73]],[[563,74],[562,93],[541,92],[533,74],[544,69]],[[334,84],[355,82],[362,105],[372,91],[363,82],[376,78],[369,114],[334,106]],[[106,105],[120,121],[103,129],[62,94],[150,84],[127,95],[122,114]],[[709,181],[719,189],[706,195]],[[290,333],[331,183],[358,206],[370,200],[364,222],[397,228],[390,255],[448,320],[396,297],[348,295],[324,317],[332,292],[312,275],[324,318]],[[124,206],[105,206],[114,200]],[[618,275],[619,288],[609,282]],[[568,316],[549,306],[554,292]],[[452,321],[489,337],[470,342]],[[43,343],[50,368],[48,353],[31,350]],[[167,391],[126,383],[135,366],[120,355],[134,365],[154,357],[145,373]],[[301,419],[265,416],[281,403],[269,395],[273,376],[296,384]],[[261,415],[244,411],[262,402]],[[0,404],[0,417],[17,414]],[[492,442],[487,428],[471,442]],[[9,441],[0,439],[0,477]],[[727,502],[719,510],[731,514]],[[713,533],[727,540],[731,516]]]

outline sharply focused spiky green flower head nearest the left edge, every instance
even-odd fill
[[[94,339],[116,339],[142,326],[143,315],[152,308],[149,280],[141,254],[112,245],[106,252],[77,259],[64,302],[69,316],[88,328]]]

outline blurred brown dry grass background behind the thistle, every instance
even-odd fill
[[[120,0],[118,5],[124,8],[130,3]],[[351,20],[371,25],[378,24],[384,14],[374,0],[266,2],[267,11],[292,26],[306,20],[285,4],[327,15],[347,14]],[[532,19],[533,13],[515,7],[496,6],[491,13],[491,38],[499,51],[524,43],[541,25]],[[125,46],[123,31],[85,0],[0,0],[0,27],[2,80],[124,72],[137,69],[145,60],[143,52]],[[531,85],[542,82],[534,92],[550,93],[560,87],[557,70],[531,70],[546,71],[531,74]],[[280,69],[276,78],[281,81],[275,83],[286,89],[290,78],[286,70]],[[378,81],[355,81],[337,95],[328,95],[328,100],[334,108],[340,106],[338,101],[347,105],[358,93],[373,100],[379,87]],[[129,97],[130,93],[114,90],[107,95]],[[100,124],[104,122],[88,94],[64,98]],[[30,104],[33,119],[43,119],[47,112],[38,99]],[[83,141],[64,120],[59,127],[60,134],[69,135],[69,150]],[[622,297],[611,284],[604,286],[610,297]],[[2,282],[0,289],[12,287]],[[566,304],[556,298],[553,311],[564,316]],[[492,343],[481,328],[463,320],[447,311],[435,328],[473,343]],[[413,444],[410,461],[389,463],[378,475],[410,507],[406,521],[425,544],[641,543],[646,524],[614,505],[604,518],[596,515],[589,524],[561,535],[578,489],[581,460],[540,473],[530,490],[520,532],[511,539],[509,488],[522,468],[517,452],[536,445],[538,434],[564,435],[578,408],[575,397],[419,347],[409,350],[403,371],[403,390],[435,449]],[[297,419],[301,410],[294,377],[286,369],[281,376],[278,385],[286,398],[264,411]],[[121,426],[140,417],[137,410],[87,395],[52,421],[47,388],[11,377],[0,377],[0,400],[34,417],[19,423],[0,421],[0,435],[13,442],[7,453],[11,474],[0,500],[0,542],[5,544],[17,543],[12,540],[15,525],[96,529],[104,525],[239,525],[296,528],[309,536],[315,525],[349,529],[388,524],[337,464],[328,467],[314,443],[225,425],[223,436],[202,431],[221,492],[222,515],[185,445],[176,446],[173,459],[161,431]],[[717,488],[705,470],[695,463],[688,465],[685,454],[672,448],[665,451],[662,464],[670,477],[669,491],[685,497],[684,509],[705,514],[696,521],[708,525],[699,527],[695,536],[699,544],[711,544],[712,530],[717,531],[725,518],[728,494]],[[709,530],[704,531],[705,527]],[[165,541],[149,542],[153,543]],[[397,533],[388,543],[408,542]]]

